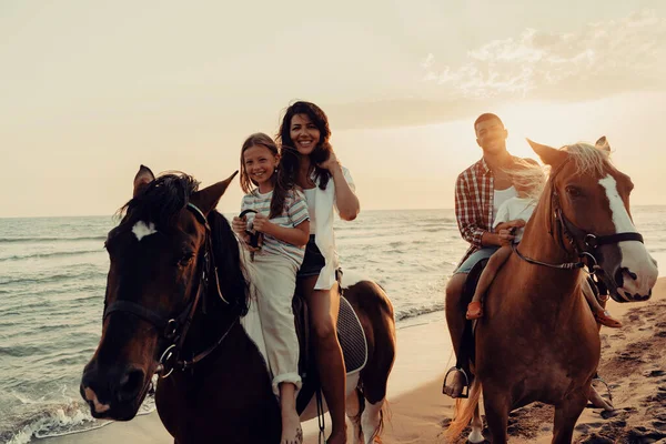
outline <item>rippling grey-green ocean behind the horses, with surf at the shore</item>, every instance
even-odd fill
[[[666,206],[633,212],[647,249],[666,256]],[[90,416],[78,387],[101,334],[103,242],[115,224],[111,216],[0,219],[0,443],[108,423]],[[398,327],[443,310],[446,280],[466,249],[453,210],[364,211],[336,221],[335,233],[343,269],[386,289]],[[142,413],[152,408],[147,400]]]

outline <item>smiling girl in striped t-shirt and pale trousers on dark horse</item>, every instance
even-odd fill
[[[301,377],[292,300],[296,272],[310,239],[310,215],[303,193],[279,184],[279,162],[278,147],[269,135],[256,133],[245,140],[241,150],[241,188],[246,195],[241,211],[256,213],[233,218],[232,226],[248,250],[254,253],[245,266],[258,291],[273,392],[280,396],[280,443],[300,444],[303,432],[295,397],[301,389]],[[263,233],[263,244],[259,249],[249,245],[249,223],[254,231]]]

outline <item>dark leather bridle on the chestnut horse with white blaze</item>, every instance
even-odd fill
[[[572,221],[569,221],[559,204],[559,194],[555,190],[555,178],[564,169],[564,165],[569,161],[567,158],[553,173],[551,182],[553,183],[553,190],[551,192],[551,203],[553,205],[553,213],[551,221],[555,221],[558,232],[559,246],[564,251],[568,251],[564,244],[566,239],[569,245],[573,248],[574,253],[578,258],[578,262],[563,262],[559,264],[552,264],[547,262],[537,261],[535,259],[523,255],[518,251],[517,244],[512,244],[513,251],[523,261],[535,265],[547,266],[551,269],[559,270],[577,270],[587,266],[587,272],[597,278],[598,281],[603,282],[606,289],[617,295],[617,282],[608,275],[608,273],[599,265],[599,259],[597,256],[597,249],[602,245],[617,244],[625,241],[637,241],[643,243],[643,235],[636,232],[614,233],[608,235],[597,235],[595,233],[587,232]],[[551,238],[555,240],[553,229],[549,230]]]

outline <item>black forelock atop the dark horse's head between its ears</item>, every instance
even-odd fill
[[[120,210],[119,216],[131,214],[133,221],[150,221],[164,229],[175,224],[178,214],[199,190],[199,182],[181,172],[160,175]]]

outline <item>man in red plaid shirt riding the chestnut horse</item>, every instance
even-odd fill
[[[506,173],[516,158],[506,150],[508,132],[497,115],[481,114],[474,122],[474,131],[476,143],[483,150],[483,158],[463,171],[455,183],[455,215],[461,235],[470,242],[470,248],[446,284],[446,305],[451,306],[460,304],[463,285],[472,268],[478,261],[490,258],[501,246],[502,240],[513,240],[509,233],[512,228],[525,225],[525,221],[509,221],[497,225],[495,232],[492,231],[493,219],[502,202],[517,195]],[[460,316],[453,311],[446,313],[454,344],[463,336],[465,316],[462,313]],[[443,391],[452,397],[458,397],[465,383],[465,376],[460,370],[453,373],[452,382]]]

